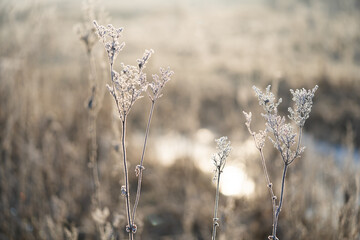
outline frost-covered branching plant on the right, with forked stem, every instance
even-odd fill
[[[256,96],[259,100],[259,105],[263,107],[264,113],[261,115],[265,118],[265,130],[260,130],[258,133],[251,130],[251,112],[243,112],[246,118],[245,125],[247,126],[249,133],[253,136],[255,141],[255,146],[260,152],[260,158],[262,167],[265,174],[265,179],[267,182],[267,187],[269,188],[272,209],[273,209],[273,227],[272,234],[268,237],[270,240],[277,240],[276,230],[278,226],[279,214],[282,208],[284,200],[284,191],[285,191],[285,177],[289,165],[296,159],[301,156],[304,152],[304,147],[301,147],[301,138],[302,130],[305,124],[305,121],[309,118],[312,107],[312,99],[318,86],[316,85],[312,90],[297,89],[295,91],[290,90],[293,95],[292,100],[294,101],[294,108],[289,108],[290,115],[288,116],[296,126],[298,127],[298,133],[294,132],[293,126],[290,123],[286,123],[285,117],[278,115],[278,106],[282,102],[281,99],[276,101],[274,94],[270,91],[270,86],[266,88],[265,92],[262,92],[257,87],[253,87]],[[268,136],[268,135],[271,136]],[[264,146],[266,137],[270,139],[275,149],[280,153],[281,159],[284,164],[282,181],[281,181],[281,191],[280,191],[280,200],[277,201],[277,197],[273,191],[273,185],[270,181],[270,177],[267,171],[265,157],[264,157]]]

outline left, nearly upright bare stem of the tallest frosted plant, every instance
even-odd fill
[[[125,137],[126,137],[126,116],[124,116],[124,120],[122,120],[122,137],[121,137],[121,144],[123,150],[123,163],[124,163],[124,180],[125,180],[125,203],[126,203],[126,214],[128,225],[131,228],[131,215],[130,215],[130,194],[129,194],[129,177],[128,177],[128,170],[127,170],[127,162],[126,162],[126,147],[125,147]],[[129,231],[129,239],[133,239],[133,232]]]

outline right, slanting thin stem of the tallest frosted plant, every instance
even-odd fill
[[[150,109],[149,119],[148,119],[146,132],[145,132],[144,146],[143,146],[143,150],[142,150],[142,154],[141,154],[140,165],[137,166],[138,186],[137,186],[135,203],[134,203],[133,214],[132,214],[132,221],[133,221],[132,224],[133,225],[135,223],[136,209],[137,209],[137,206],[138,206],[139,200],[140,200],[141,182],[142,182],[142,174],[143,174],[143,162],[144,162],[144,157],[145,157],[145,149],[146,149],[147,139],[148,139],[148,135],[149,135],[149,131],[150,131],[151,118],[152,118],[152,115],[153,115],[153,112],[154,112],[155,102],[156,102],[155,100],[152,100],[152,102],[151,102],[151,109]]]

